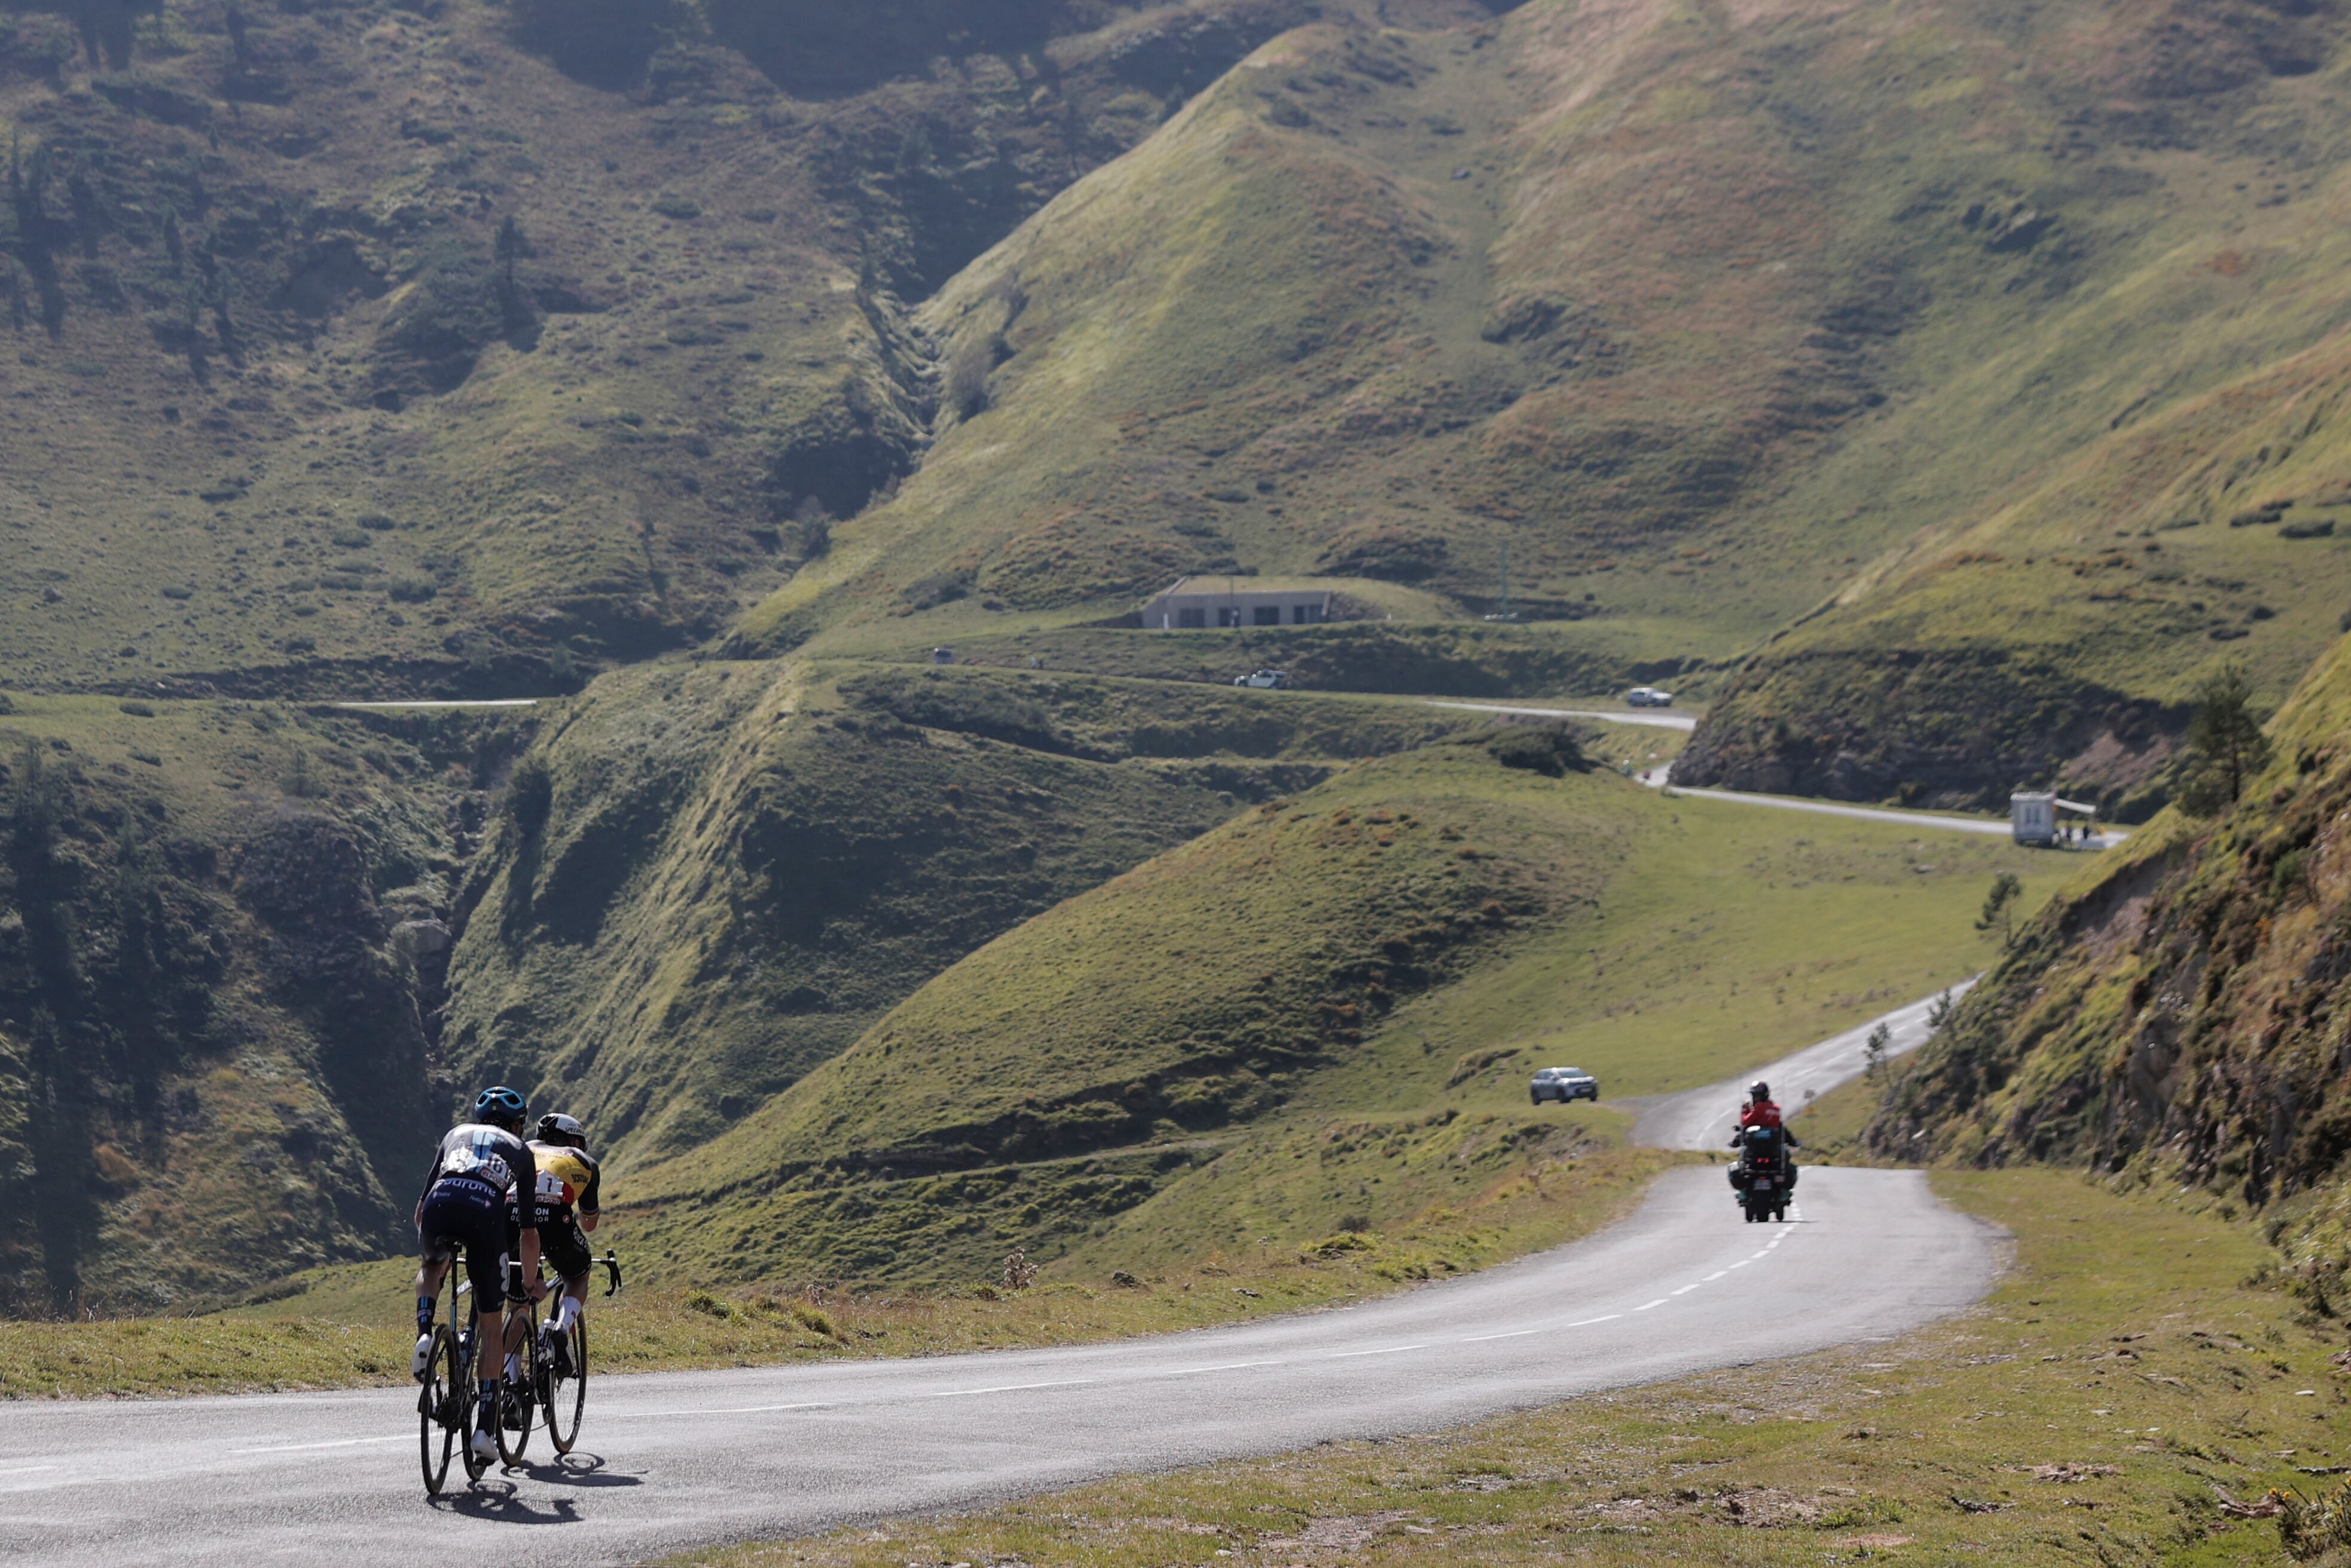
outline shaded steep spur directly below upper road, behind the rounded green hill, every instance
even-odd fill
[[[548,729],[465,893],[447,1048],[677,1154],[973,947],[1331,759],[1472,715],[978,670],[644,670]],[[529,776],[529,773],[527,773]]]

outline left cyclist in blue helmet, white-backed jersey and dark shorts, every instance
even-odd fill
[[[473,1448],[477,1458],[496,1458],[496,1403],[498,1371],[522,1335],[522,1314],[510,1312],[505,1300],[508,1262],[508,1204],[517,1192],[536,1192],[538,1166],[531,1145],[522,1140],[522,1117],[529,1107],[513,1088],[484,1088],[473,1100],[473,1121],[449,1128],[433,1152],[433,1168],[426,1171],[423,1197],[416,1199],[416,1359],[411,1371],[418,1382],[426,1375],[426,1359],[433,1352],[433,1302],[456,1248],[465,1248],[465,1276],[473,1281],[473,1302],[482,1314],[482,1345],[477,1359],[482,1420],[475,1425]],[[545,1295],[538,1284],[538,1227],[529,1206],[522,1213],[522,1279],[531,1300]],[[501,1324],[501,1314],[505,1314]],[[501,1324],[501,1333],[489,1326]],[[456,1324],[451,1324],[456,1328]]]

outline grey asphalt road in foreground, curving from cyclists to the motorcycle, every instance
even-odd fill
[[[1801,1197],[1787,1225],[1747,1225],[1721,1171],[1690,1168],[1592,1241],[1352,1309],[1070,1349],[611,1378],[592,1385],[569,1467],[491,1472],[442,1502],[423,1497],[400,1389],[16,1403],[0,1408],[0,1561],[639,1563],[1888,1338],[1991,1279],[1991,1234],[1921,1173],[1808,1171]]]

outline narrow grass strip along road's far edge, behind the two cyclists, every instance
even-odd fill
[[[1559,1246],[1622,1218],[1679,1157],[1589,1135],[1512,1150],[1483,1190],[1432,1204],[1392,1232],[1284,1237],[1246,1255],[1208,1253],[1145,1274],[1058,1279],[1027,1291],[976,1281],[936,1291],[823,1293],[675,1281],[595,1300],[602,1371],[773,1366],[1077,1345],[1270,1316],[1380,1295]],[[597,1234],[630,1255],[628,1229]],[[317,1269],[277,1300],[195,1319],[0,1321],[0,1399],[240,1394],[407,1382],[409,1272],[400,1260]],[[1121,1272],[1124,1274],[1124,1272]]]

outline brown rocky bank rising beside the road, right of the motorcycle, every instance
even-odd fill
[[[2219,818],[2179,809],[2017,940],[1878,1112],[1904,1159],[2088,1161],[2264,1208],[2342,1175],[2351,646]]]

